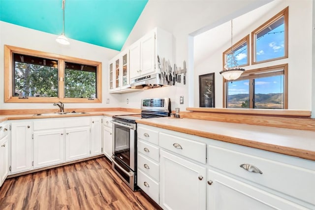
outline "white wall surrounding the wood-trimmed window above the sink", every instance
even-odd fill
[[[0,21],[0,60],[4,60],[4,45],[11,45],[59,55],[71,56],[102,62],[102,103],[65,104],[65,108],[81,107],[117,107],[120,95],[108,93],[108,60],[119,52],[104,47],[70,39],[70,45],[64,46],[55,41],[56,35],[32,30]],[[52,103],[4,103],[4,64],[0,62],[0,109],[54,109]],[[106,98],[110,103],[106,104]]]

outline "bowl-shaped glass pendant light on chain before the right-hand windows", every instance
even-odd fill
[[[230,67],[229,67],[230,66]],[[239,68],[237,61],[235,60],[233,52],[233,20],[231,20],[231,52],[227,54],[227,58],[224,64],[224,69],[220,71],[220,74],[226,80],[236,80],[245,71],[244,68]]]

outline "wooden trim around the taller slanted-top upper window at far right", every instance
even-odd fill
[[[279,20],[281,17],[284,17],[284,56],[279,57],[279,58],[274,58],[274,59],[269,59],[269,60],[261,60],[261,61],[256,61],[256,34],[259,33],[260,31],[264,30],[268,26],[270,26],[272,23],[275,21]],[[278,14],[270,18],[267,22],[259,26],[257,29],[252,31],[252,64],[257,64],[257,63],[264,63],[264,62],[269,62],[273,60],[281,60],[281,59],[286,59],[288,58],[288,21],[289,20],[289,7],[287,6],[284,8],[282,11],[280,11]]]

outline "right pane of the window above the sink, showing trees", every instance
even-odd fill
[[[64,97],[96,98],[96,66],[65,62]]]

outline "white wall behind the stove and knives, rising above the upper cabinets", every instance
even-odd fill
[[[129,45],[145,35],[155,27],[159,27],[173,34],[174,61],[177,66],[183,66],[186,60],[188,77],[186,85],[176,84],[174,87],[158,88],[141,92],[122,94],[124,107],[140,108],[140,99],[146,97],[169,97],[171,108],[180,107],[186,110],[189,98],[193,98],[192,78],[192,45],[189,45],[190,34],[194,35],[209,27],[218,26],[228,20],[251,11],[271,0],[149,0],[136,25],[130,33],[123,47]],[[190,57],[189,57],[190,54]],[[184,96],[184,104],[180,104],[180,96]],[[126,99],[129,104],[126,104]]]

